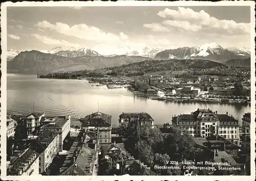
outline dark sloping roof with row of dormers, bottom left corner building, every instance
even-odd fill
[[[18,170],[22,170],[22,173],[26,172],[38,157],[39,154],[33,150],[29,148],[24,150],[19,157],[10,163],[7,174],[18,175]]]

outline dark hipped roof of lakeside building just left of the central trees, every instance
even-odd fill
[[[112,116],[101,112],[92,113],[81,118],[83,126],[109,127],[112,125]]]

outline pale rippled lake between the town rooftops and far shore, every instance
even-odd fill
[[[33,104],[34,102],[34,104]],[[126,89],[92,87],[85,80],[37,79],[37,75],[7,75],[7,112],[24,114],[29,111],[45,112],[46,116],[71,115],[73,124],[92,112],[112,115],[118,124],[122,112],[147,112],[155,124],[171,122],[172,116],[190,114],[200,109],[239,118],[250,112],[250,106],[229,104],[200,104],[198,102],[165,102],[134,96]]]

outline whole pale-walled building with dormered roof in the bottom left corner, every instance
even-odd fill
[[[29,148],[23,150],[11,160],[7,175],[39,175],[39,154]]]

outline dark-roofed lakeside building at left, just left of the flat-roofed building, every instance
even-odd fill
[[[17,120],[17,137],[20,139],[26,139],[29,135],[35,133],[40,124],[41,118],[45,116],[45,113],[29,112],[27,115],[22,116]]]

